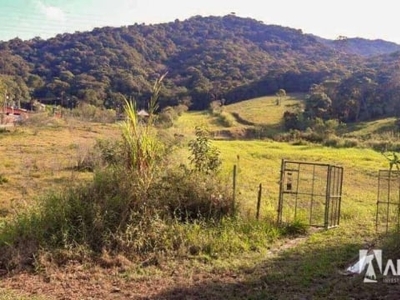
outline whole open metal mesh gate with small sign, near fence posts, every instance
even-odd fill
[[[282,160],[278,224],[300,221],[326,229],[340,221],[343,168]]]

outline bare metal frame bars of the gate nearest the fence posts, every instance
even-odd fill
[[[310,224],[308,224],[308,226],[313,226],[313,227],[323,227],[325,229],[330,229],[330,228],[335,228],[337,226],[339,226],[340,223],[340,211],[341,211],[341,204],[342,204],[342,191],[343,191],[343,173],[344,173],[344,169],[341,166],[337,166],[337,165],[332,165],[332,164],[324,164],[324,163],[315,163],[315,162],[306,162],[306,161],[292,161],[292,160],[286,160],[286,159],[282,159],[281,162],[281,174],[280,174],[280,185],[279,185],[279,202],[278,202],[278,220],[277,223],[279,225],[281,225],[283,223],[282,221],[282,212],[283,212],[283,205],[284,205],[284,194],[288,194],[287,192],[285,192],[284,189],[284,184],[285,184],[285,172],[290,171],[290,169],[285,169],[285,165],[287,163],[292,163],[292,164],[297,164],[298,168],[297,170],[293,170],[296,172],[299,172],[300,170],[300,166],[301,165],[311,165],[311,166],[318,166],[318,167],[327,167],[327,172],[326,172],[326,187],[325,187],[325,211],[324,211],[324,225],[315,225],[315,224],[311,224],[311,215],[312,215],[312,204],[310,205]],[[332,170],[336,170],[339,169],[341,170],[340,174],[339,174],[339,178],[336,177],[336,171],[334,172],[334,179],[339,179],[339,186],[337,186],[337,194],[335,195],[331,195],[331,188],[332,188]],[[296,199],[297,199],[297,194],[298,194],[298,182],[299,182],[299,175],[297,176],[297,191],[296,193]],[[293,192],[291,192],[291,194],[293,194]],[[312,187],[312,192],[310,194],[311,199],[314,196],[314,181],[313,181],[313,187]],[[316,196],[316,195],[315,195]],[[322,195],[319,195],[322,196]],[[330,209],[330,203],[331,203],[331,199],[336,198],[338,201],[337,204],[337,222],[335,222],[334,225],[329,225],[329,209]],[[312,200],[311,200],[312,201]],[[295,216],[294,219],[296,218],[296,211],[297,211],[297,203],[295,206]],[[331,218],[332,219],[332,218]]]

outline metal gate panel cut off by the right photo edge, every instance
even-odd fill
[[[400,171],[379,170],[376,230],[400,228]]]

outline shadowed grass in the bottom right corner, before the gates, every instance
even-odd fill
[[[359,249],[366,248],[360,236],[354,241],[351,232],[339,228],[317,233],[236,274],[216,271],[201,282],[184,280],[150,299],[400,299],[400,276],[390,284],[382,278],[364,283],[363,275],[344,274]]]

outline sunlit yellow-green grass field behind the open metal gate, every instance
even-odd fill
[[[239,165],[239,201],[246,207],[253,203],[253,208],[259,183],[265,187],[267,203],[270,202],[266,206],[270,209],[275,208],[282,159],[344,167],[344,201],[345,205],[348,205],[347,208],[354,211],[358,210],[359,203],[368,205],[369,211],[374,209],[377,173],[379,169],[387,168],[386,159],[368,149],[334,149],[317,145],[291,146],[270,141],[216,141],[215,145],[222,152],[226,168],[232,168],[234,163]],[[346,209],[343,213],[351,215]]]

